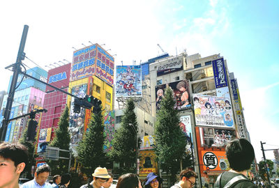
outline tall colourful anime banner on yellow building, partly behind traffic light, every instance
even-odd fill
[[[72,88],[72,94],[83,98],[85,97],[87,92],[87,84],[82,84],[80,86],[74,86]],[[74,112],[74,100],[72,97],[70,103],[70,125],[69,125],[69,133],[70,133],[70,148],[73,150],[73,155],[77,157],[77,147],[78,143],[82,140],[82,135],[84,134],[84,117],[85,117],[85,109],[80,108],[80,113]]]

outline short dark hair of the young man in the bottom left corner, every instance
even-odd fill
[[[25,164],[28,162],[27,148],[21,143],[1,143],[0,156],[4,159],[12,160],[15,163],[15,167],[22,162]]]

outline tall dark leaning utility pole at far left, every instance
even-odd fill
[[[28,29],[29,29],[29,26],[24,25],[24,29],[22,32],[22,40],[20,41],[20,49],[18,49],[18,53],[17,53],[17,61],[13,65],[8,66],[8,68],[13,66],[13,79],[10,84],[10,91],[8,93],[6,110],[4,112],[4,117],[3,117],[2,127],[1,127],[1,135],[0,135],[1,141],[5,141],[5,137],[6,137],[8,120],[10,118],[10,110],[12,109],[12,105],[13,105],[13,97],[15,95],[17,78],[18,78],[19,72],[21,72],[20,65],[22,63],[22,60],[24,60],[24,56],[25,56],[24,47],[25,47],[25,42],[27,40]]]

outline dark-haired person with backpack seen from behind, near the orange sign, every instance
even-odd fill
[[[256,188],[257,186],[246,177],[247,171],[255,159],[251,143],[246,139],[230,141],[226,146],[226,155],[231,169],[218,176],[214,188]]]

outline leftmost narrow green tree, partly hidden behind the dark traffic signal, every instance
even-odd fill
[[[28,125],[28,123],[27,123]],[[28,164],[26,164],[24,171],[27,173],[27,178],[31,178],[31,169],[32,166],[35,165],[34,159],[34,143],[31,141],[27,141],[27,129],[24,130],[22,137],[20,138],[20,143],[22,143],[28,149]]]

